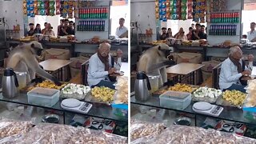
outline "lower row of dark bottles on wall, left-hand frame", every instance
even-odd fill
[[[105,21],[79,21],[78,31],[105,31]]]

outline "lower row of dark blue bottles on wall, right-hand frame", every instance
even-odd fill
[[[209,30],[210,35],[236,35],[236,25],[211,25]]]

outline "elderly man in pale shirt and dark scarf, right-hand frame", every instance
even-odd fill
[[[221,90],[239,90],[245,93],[245,86],[242,86],[240,79],[242,76],[250,75],[253,60],[254,56],[250,54],[248,56],[249,66],[245,66],[245,62],[242,61],[242,50],[239,46],[231,47],[229,58],[222,62],[219,75]]]

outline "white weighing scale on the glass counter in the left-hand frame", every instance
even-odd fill
[[[61,106],[64,110],[70,110],[82,114],[87,114],[93,105],[88,102],[78,101],[74,98],[68,98],[62,101]]]

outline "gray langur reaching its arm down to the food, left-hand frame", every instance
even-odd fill
[[[22,44],[10,51],[7,58],[7,67],[13,68],[14,71],[27,72],[26,82],[30,82],[35,78],[37,73],[42,78],[53,81],[56,85],[61,85],[57,78],[48,74],[39,66],[38,56],[42,54],[42,45],[40,42],[33,41],[30,43]]]

